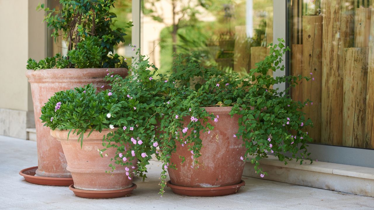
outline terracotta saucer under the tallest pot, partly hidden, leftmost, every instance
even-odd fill
[[[19,175],[23,176],[27,182],[38,184],[38,185],[51,185],[51,186],[69,186],[73,184],[73,178],[59,178],[59,177],[45,177],[35,176],[35,171],[38,169],[37,166],[22,169]]]

